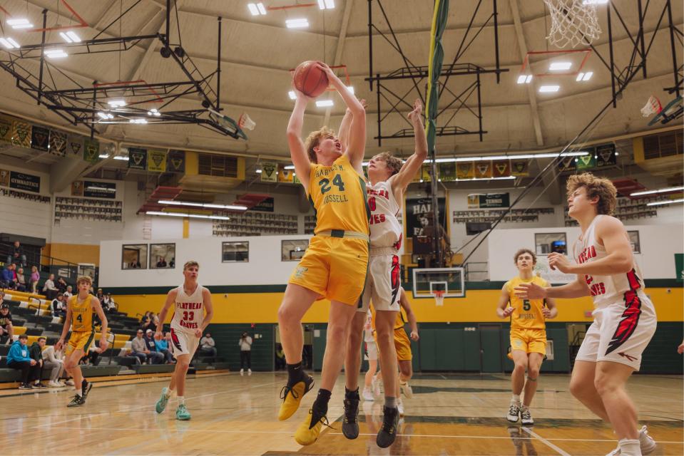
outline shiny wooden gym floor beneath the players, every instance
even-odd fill
[[[317,381],[319,378],[317,377]],[[292,438],[308,406],[277,421],[284,373],[236,373],[188,379],[186,404],[193,419],[175,420],[175,400],[161,415],[154,404],[164,381],[98,383],[81,408],[66,408],[71,390],[0,398],[0,453],[12,455],[605,455],[616,446],[609,427],[568,392],[568,375],[541,375],[534,398],[534,427],[512,425],[506,375],[417,375],[414,398],[392,447],[375,445],[382,403],[362,403],[361,435],[341,432],[344,380],[337,382],[329,419],[319,440],[301,447]],[[634,375],[629,391],[658,441],[655,455],[682,455],[683,378]],[[6,392],[6,394],[9,392]]]

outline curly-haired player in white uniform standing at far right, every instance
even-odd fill
[[[638,371],[641,355],[655,333],[655,309],[645,294],[625,227],[611,217],[617,195],[613,183],[587,172],[571,176],[567,190],[568,214],[582,229],[573,248],[576,263],[552,253],[548,265],[577,274],[577,280],[548,288],[521,284],[516,295],[523,299],[592,297],[594,321],[576,357],[571,393],[613,426],[619,442],[611,455],[648,454],[656,445],[645,426],[637,428],[637,413],[625,384]]]

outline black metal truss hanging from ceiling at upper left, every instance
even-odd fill
[[[111,21],[93,39],[77,43],[46,43],[45,32],[41,43],[21,46],[19,49],[6,51],[0,57],[0,68],[16,79],[16,87],[34,98],[38,104],[46,105],[54,113],[73,125],[88,125],[91,136],[98,132],[98,125],[150,123],[150,124],[195,124],[223,133],[235,139],[246,138],[243,131],[230,118],[208,115],[209,111],[220,112],[220,57],[221,57],[221,18],[218,18],[218,56],[217,68],[207,76],[203,76],[193,60],[185,53],[180,37],[178,9],[175,0],[166,0],[165,33],[150,35],[121,36],[118,38],[100,38],[113,24],[123,21],[126,14],[141,3],[136,1],[121,15]],[[177,37],[171,39],[171,11],[175,11],[175,23],[178,26]],[[46,29],[47,10],[43,11],[43,30]],[[45,58],[45,51],[61,48],[70,55],[126,52],[143,40],[158,39],[162,43],[161,56],[172,58],[186,81],[155,82],[118,81],[116,83],[100,83],[93,81],[91,86],[83,86]],[[150,46],[154,46],[150,43]],[[39,62],[39,72],[28,68]],[[214,90],[212,85],[215,85]],[[201,106],[197,109],[174,110],[173,103],[180,97],[191,95],[199,98]],[[113,107],[108,104],[113,98],[124,100],[126,105]],[[152,108],[156,110],[150,115]],[[105,117],[103,118],[101,113]],[[143,122],[144,120],[144,122]]]

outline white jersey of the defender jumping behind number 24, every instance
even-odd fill
[[[370,207],[370,247],[402,247],[402,225],[397,215],[402,210],[394,199],[389,182],[366,185]]]

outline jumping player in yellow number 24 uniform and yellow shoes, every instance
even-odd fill
[[[366,113],[340,78],[325,65],[330,84],[347,103],[341,130],[349,130],[343,144],[327,128],[302,141],[304,112],[310,101],[295,89],[297,100],[287,125],[287,142],[295,173],[316,212],[316,227],[307,252],[290,276],[278,309],[280,340],[287,362],[287,385],[282,389],[279,420],[287,420],[299,408],[313,379],[302,371],[302,317],[320,298],[330,299],[327,345],[323,356],[321,388],[309,415],[295,432],[300,445],[310,445],[327,424],[327,405],[340,375],[349,336],[368,266],[369,209],[362,160],[366,142]]]

